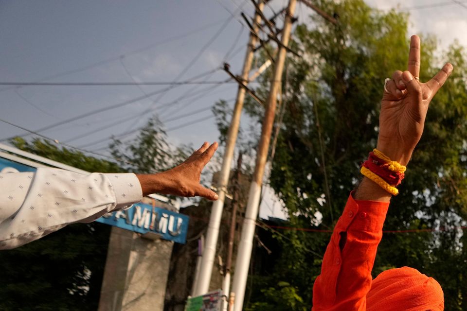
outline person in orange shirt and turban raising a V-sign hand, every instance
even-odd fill
[[[312,311],[443,311],[440,284],[413,268],[388,269],[372,278],[377,246],[393,195],[420,140],[431,99],[448,79],[446,64],[420,82],[420,38],[411,37],[408,70],[384,82],[377,148],[343,209],[313,287]]]

